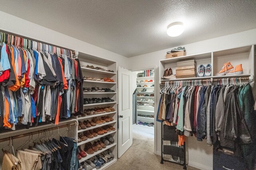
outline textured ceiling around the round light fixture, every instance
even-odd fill
[[[256,28],[256,0],[0,0],[0,4],[3,12],[125,57]],[[166,27],[174,21],[184,22],[185,30],[169,37]]]

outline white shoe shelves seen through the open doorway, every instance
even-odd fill
[[[142,77],[138,77],[138,73],[140,72],[144,72],[144,76]],[[137,95],[146,95],[148,94],[148,96],[137,96],[136,97],[136,104],[137,104],[137,115],[138,115],[138,121],[141,121],[141,122],[146,122],[146,123],[154,123],[154,118],[150,118],[150,117],[143,117],[143,116],[140,116],[140,115],[154,115],[154,97],[150,96],[150,94],[154,94],[154,86],[151,87],[152,85],[154,85],[154,69],[151,69],[151,74],[150,74],[150,71],[149,71],[149,74],[150,75],[146,75],[146,70],[142,70],[142,71],[138,71],[137,72],[137,78],[136,78],[136,84],[137,86],[140,85],[141,87],[137,87],[136,90],[138,91],[137,92]],[[145,80],[147,80],[145,82]],[[151,80],[151,82],[149,82]],[[143,82],[141,82],[143,81]],[[146,85],[147,87],[143,87],[144,85]],[[142,92],[143,89],[146,89],[146,92]],[[140,99],[145,99],[146,101],[140,101]],[[151,99],[153,101],[148,101],[148,99]],[[138,103],[141,103],[142,105],[138,105]],[[149,106],[144,106],[144,104],[148,104]],[[148,126],[145,126],[145,127],[148,127]],[[152,128],[152,127],[151,127]]]

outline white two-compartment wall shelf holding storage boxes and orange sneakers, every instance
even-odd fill
[[[198,71],[198,66],[200,64],[204,64],[204,66],[206,66],[206,64],[211,64],[212,75],[208,77],[176,78],[176,79],[170,79],[170,80],[160,80],[160,82],[163,83],[166,81],[205,80],[205,79],[210,79],[213,81],[220,78],[237,78],[237,81],[238,81],[239,78],[243,78],[243,77],[249,77],[250,81],[254,81],[254,45],[160,60],[159,61],[160,79],[164,74],[164,70],[166,70],[167,68],[172,68],[173,74],[176,74],[177,62],[186,61],[188,59],[194,59],[196,61],[196,72]],[[229,61],[234,67],[238,64],[242,64],[243,74],[215,76],[215,74],[221,70],[223,64]]]

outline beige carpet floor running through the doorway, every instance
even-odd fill
[[[132,146],[106,170],[183,170],[182,165],[171,162],[160,164],[161,156],[154,154],[154,135],[133,130]],[[188,170],[197,170],[188,167]]]

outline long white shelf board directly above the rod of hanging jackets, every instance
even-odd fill
[[[209,76],[209,77],[192,77],[192,78],[176,78],[168,80],[160,80],[161,82],[169,81],[182,81],[182,80],[206,80],[206,79],[220,79],[220,78],[239,78],[239,77],[249,77],[251,74],[237,74],[237,75],[225,75],[225,76]]]

